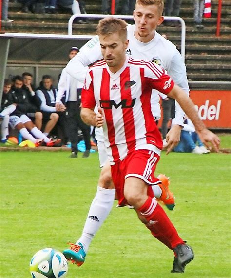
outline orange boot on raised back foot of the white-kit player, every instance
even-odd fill
[[[161,200],[169,210],[173,210],[175,206],[175,197],[173,193],[169,190],[170,181],[169,178],[163,174],[160,174],[157,179],[159,179],[162,183],[158,184],[162,190],[162,194],[160,198],[157,200]]]

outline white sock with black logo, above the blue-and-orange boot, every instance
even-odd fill
[[[114,203],[116,189],[97,187],[96,196],[90,206],[81,237],[77,243],[82,243],[85,252],[94,238],[96,232],[108,217]]]

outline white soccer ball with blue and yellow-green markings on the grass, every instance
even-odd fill
[[[67,260],[58,250],[39,250],[31,259],[30,272],[33,278],[63,278],[68,271]]]

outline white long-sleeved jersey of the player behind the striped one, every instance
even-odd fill
[[[189,86],[186,75],[186,67],[184,61],[176,49],[175,45],[163,38],[159,33],[155,32],[154,38],[149,42],[141,42],[135,38],[135,25],[128,25],[128,40],[129,45],[126,50],[126,55],[134,59],[142,59],[152,61],[161,65],[172,77],[175,84],[180,86],[187,94],[189,94]],[[101,60],[102,53],[98,36],[91,39],[86,43],[80,52],[69,61],[67,64],[67,72],[83,82],[87,73],[87,66],[94,63],[97,60]],[[159,95],[157,90],[153,90],[151,98],[152,113],[155,119],[160,118],[160,105]],[[176,103],[175,119],[173,124],[179,124],[183,126],[185,113],[181,109],[178,103]],[[96,128],[97,130],[97,128]],[[96,139],[103,141],[103,138],[99,136],[96,131]],[[101,139],[100,139],[101,138]]]

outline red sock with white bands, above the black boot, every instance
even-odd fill
[[[156,229],[162,232],[162,235],[169,241],[172,249],[184,241],[179,237],[173,223],[168,218],[165,211],[156,200],[148,197],[146,202],[138,209],[141,214],[148,220],[157,221]]]

